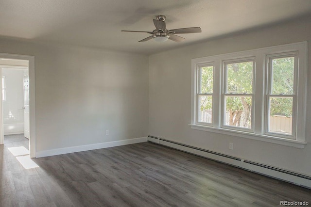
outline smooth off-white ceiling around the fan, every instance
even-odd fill
[[[0,35],[30,41],[151,54],[212,37],[277,24],[311,14],[311,0],[0,0]],[[140,42],[165,15],[167,29],[201,27],[180,34],[183,43]]]

